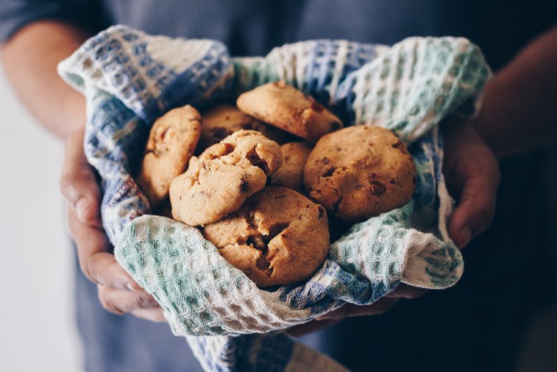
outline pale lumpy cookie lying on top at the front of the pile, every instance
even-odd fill
[[[254,130],[240,130],[191,157],[170,187],[172,216],[191,226],[234,212],[265,187],[282,164],[281,147]]]

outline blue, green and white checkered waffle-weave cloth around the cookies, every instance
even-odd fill
[[[462,257],[446,231],[452,204],[437,125],[474,114],[489,79],[468,40],[408,38],[392,47],[312,40],[233,59],[214,40],[113,26],[59,72],[87,98],[85,153],[102,179],[103,223],[116,258],[205,369],[340,371],[278,331],[346,302],[372,304],[400,282],[447,288],[460,279]],[[393,130],[414,156],[418,181],[405,206],[355,224],[334,242],[306,283],[260,290],[196,228],[150,215],[132,175],[150,126],[169,109],[203,109],[277,79],[331,107],[345,125]]]

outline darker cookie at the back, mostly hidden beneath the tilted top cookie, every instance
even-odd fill
[[[290,137],[290,134],[265,124],[253,116],[249,116],[240,111],[237,107],[227,104],[223,104],[205,112],[202,118],[201,139],[199,140],[198,146],[201,150],[205,150],[205,148],[219,143],[225,137],[242,129],[257,130],[265,137],[276,141],[278,144],[283,144],[288,140],[288,137]]]

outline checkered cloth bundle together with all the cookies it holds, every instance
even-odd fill
[[[116,260],[206,370],[331,370],[276,331],[460,279],[438,124],[474,114],[490,76],[468,40],[233,58],[113,26],[59,72],[86,95]]]

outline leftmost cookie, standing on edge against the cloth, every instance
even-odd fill
[[[168,197],[172,180],[182,174],[201,133],[201,116],[188,105],[168,111],[152,125],[137,183],[151,208]]]

